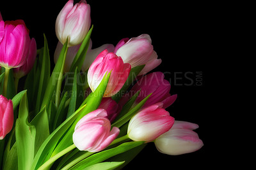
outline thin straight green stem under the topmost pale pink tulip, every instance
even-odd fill
[[[55,105],[56,105],[57,108],[60,105],[61,84],[62,84],[62,81],[63,81],[62,78],[63,78],[63,72],[64,72],[64,66],[65,66],[67,51],[68,51],[68,48],[65,50],[63,63],[62,63],[61,70],[60,70],[60,75],[59,75],[58,81],[57,81],[56,98],[55,98]]]

